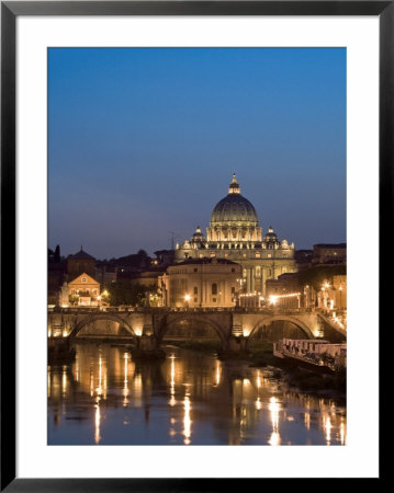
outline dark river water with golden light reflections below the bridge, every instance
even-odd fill
[[[272,367],[166,347],[134,363],[126,347],[77,344],[48,367],[48,445],[346,445],[346,408],[289,391]]]

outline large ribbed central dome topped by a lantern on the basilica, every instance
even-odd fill
[[[241,196],[239,184],[233,174],[228,195],[219,200],[211,215],[211,227],[258,226],[259,219],[252,204]]]

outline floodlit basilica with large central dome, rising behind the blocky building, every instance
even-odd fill
[[[272,227],[266,234],[254,205],[240,193],[233,175],[228,194],[214,207],[206,237],[198,227],[190,240],[177,244],[175,262],[193,259],[226,259],[241,266],[239,291],[266,295],[266,280],[297,271],[294,243],[279,240]]]

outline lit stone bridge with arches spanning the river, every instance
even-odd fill
[[[115,322],[112,330],[99,330],[100,321]],[[305,339],[326,336],[324,322],[318,312],[297,310],[269,310],[252,308],[207,309],[207,308],[139,308],[139,309],[89,309],[63,308],[48,312],[48,336],[69,337],[78,334],[103,339],[126,339],[130,344],[158,348],[171,326],[182,321],[196,321],[210,325],[218,335],[223,351],[247,348],[262,326],[274,321],[288,321],[305,334]],[[327,321],[325,323],[327,326]],[[90,331],[87,332],[87,328]],[[81,333],[81,331],[83,333]],[[329,329],[333,342],[346,339],[335,326]],[[334,335],[333,335],[334,334]]]

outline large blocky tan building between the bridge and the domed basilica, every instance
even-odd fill
[[[234,307],[241,266],[226,259],[190,259],[167,267],[159,277],[167,307]]]

